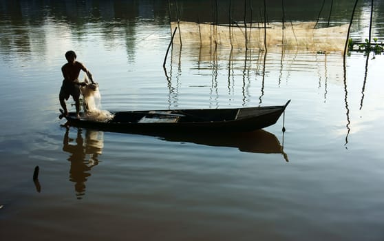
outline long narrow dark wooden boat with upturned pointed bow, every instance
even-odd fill
[[[225,109],[167,109],[111,112],[109,121],[77,118],[74,112],[60,117],[67,125],[108,132],[250,132],[277,122],[285,105]]]

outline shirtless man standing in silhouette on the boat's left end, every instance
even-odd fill
[[[78,81],[78,75],[80,74],[80,70],[83,70],[91,83],[95,85],[92,74],[87,70],[87,68],[83,65],[83,63],[80,63],[76,61],[76,53],[72,50],[65,53],[65,59],[67,59],[68,63],[65,63],[63,67],[61,67],[61,71],[63,72],[64,80],[63,85],[61,85],[61,90],[58,98],[60,99],[60,105],[64,109],[64,116],[68,115],[67,106],[65,105],[65,101],[72,96],[75,101],[76,106],[76,114],[77,118],[80,118],[80,87],[87,85],[85,82],[79,82]]]

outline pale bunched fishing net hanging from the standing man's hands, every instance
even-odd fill
[[[88,79],[85,78],[85,83],[89,83]],[[84,115],[82,118],[92,120],[92,121],[109,121],[111,118],[114,118],[114,115],[108,112],[107,110],[101,108],[101,96],[98,90],[92,85],[85,85],[80,88],[81,94],[83,94],[83,107]]]

